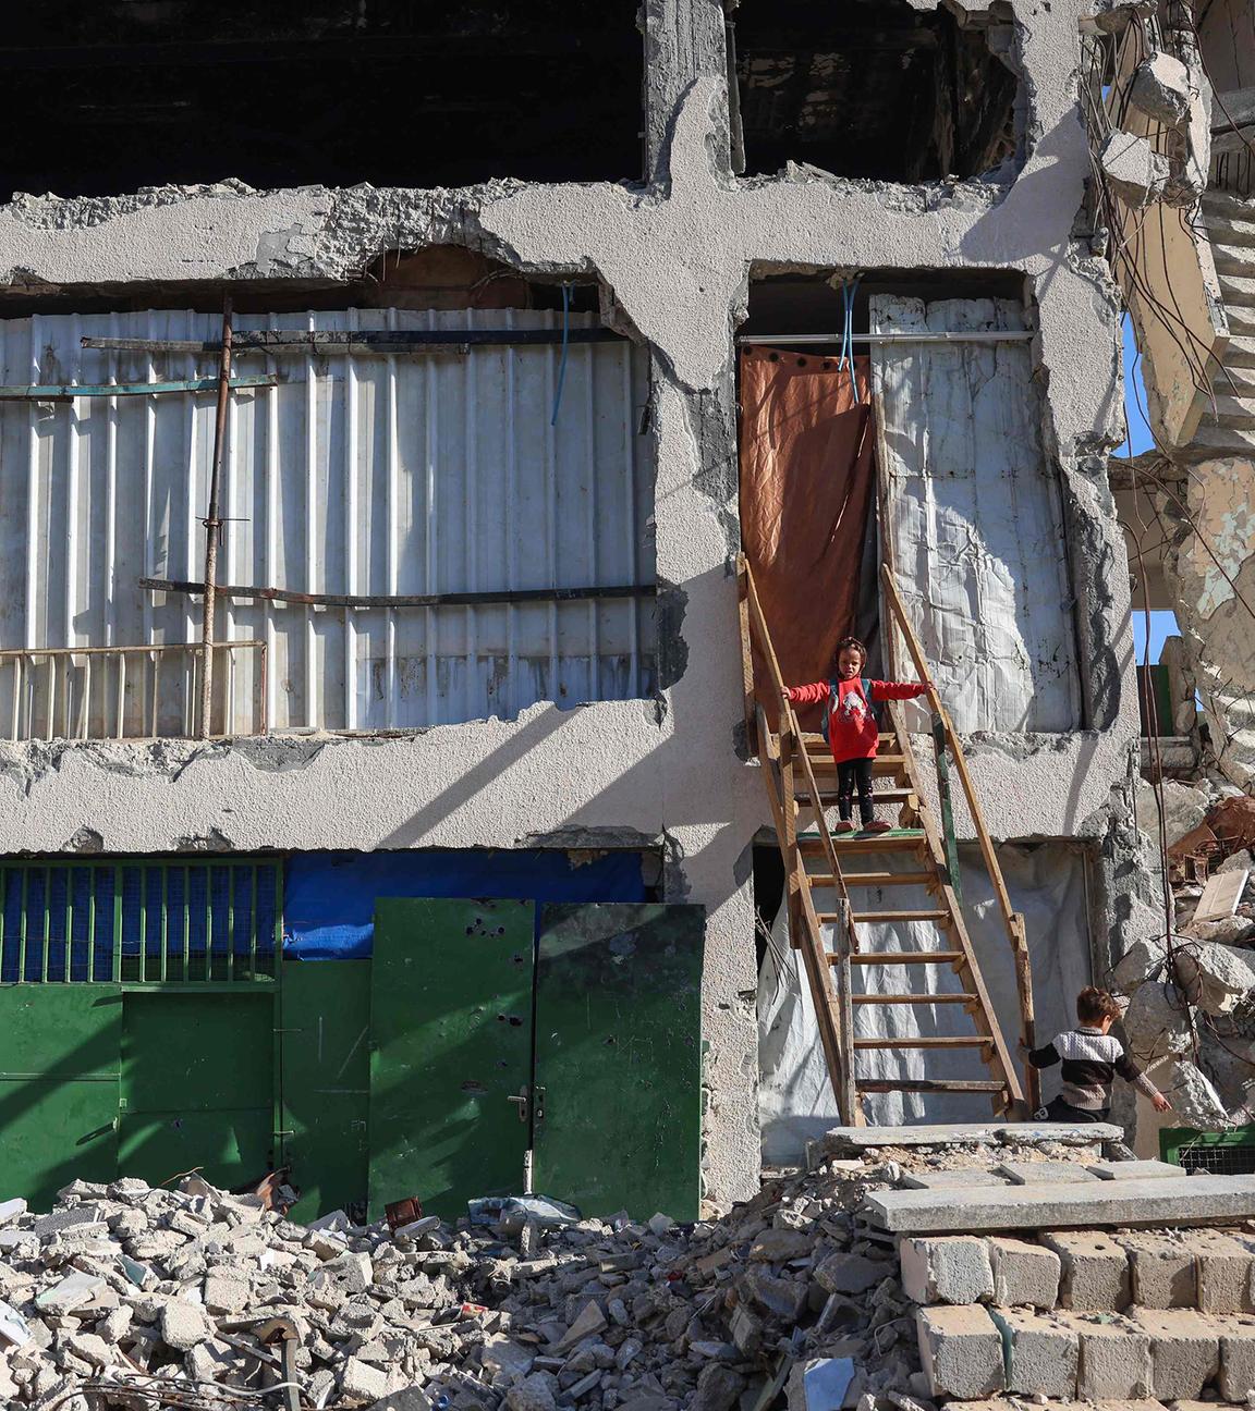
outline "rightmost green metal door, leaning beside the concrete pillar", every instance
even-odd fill
[[[546,906],[535,1187],[584,1215],[697,1218],[700,906]]]

